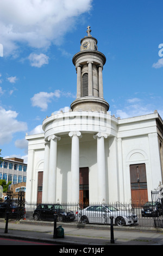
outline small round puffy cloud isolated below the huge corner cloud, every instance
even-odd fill
[[[31,66],[36,66],[37,68],[41,68],[41,66],[48,64],[49,57],[43,53],[40,53],[40,54],[30,53],[28,59],[30,60]]]

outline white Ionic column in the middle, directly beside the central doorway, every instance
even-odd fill
[[[71,202],[79,202],[79,138],[82,138],[81,132],[69,132],[72,138],[71,144]]]

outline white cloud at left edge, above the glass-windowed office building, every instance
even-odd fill
[[[16,118],[18,113],[16,111],[8,110],[0,107],[0,144],[9,143],[12,140],[14,133],[26,131],[27,124],[22,121],[18,121]]]

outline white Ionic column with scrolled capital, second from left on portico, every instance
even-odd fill
[[[56,201],[56,176],[57,176],[57,141],[60,137],[51,135],[48,137],[50,141],[49,154],[49,175],[48,175],[48,202]]]

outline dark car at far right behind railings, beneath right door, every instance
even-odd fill
[[[145,216],[160,216],[162,215],[162,205],[159,202],[146,202],[142,206],[141,210],[142,217]]]

